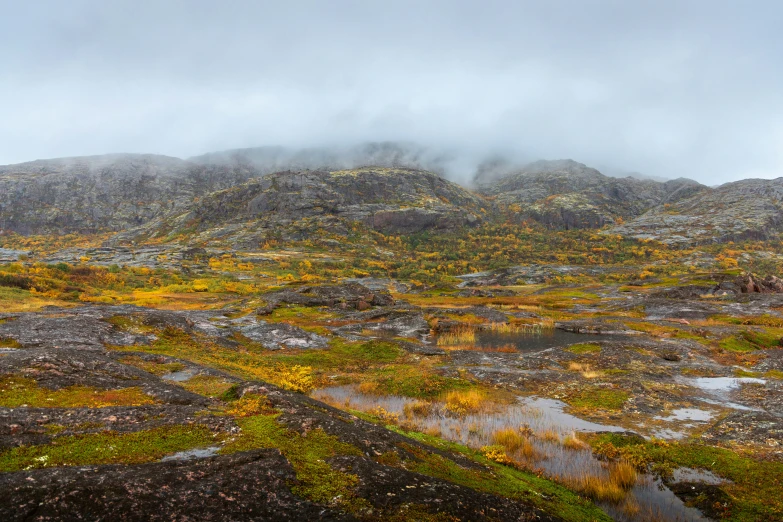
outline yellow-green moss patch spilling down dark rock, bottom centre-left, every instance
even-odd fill
[[[299,435],[279,424],[278,416],[257,415],[237,419],[242,432],[223,448],[222,453],[277,448],[296,471],[299,484],[292,488],[294,493],[322,504],[339,503],[346,507],[361,504],[361,499],[355,497],[352,491],[359,483],[358,477],[332,469],[326,459],[337,455],[362,455],[362,452],[321,429],[309,431],[307,436]]]

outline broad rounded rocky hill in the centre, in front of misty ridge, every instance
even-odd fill
[[[426,171],[285,171],[208,194],[117,239],[197,232],[202,240],[257,244],[270,235],[306,236],[319,228],[347,233],[350,222],[414,233],[475,225],[491,208],[481,197]]]

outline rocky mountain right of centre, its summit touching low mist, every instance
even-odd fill
[[[599,228],[705,188],[683,178],[663,183],[613,178],[573,160],[558,160],[531,163],[494,181],[479,183],[477,190],[519,217],[553,228]]]

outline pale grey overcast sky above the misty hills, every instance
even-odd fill
[[[0,0],[0,164],[407,140],[783,176],[783,2]],[[466,167],[467,168],[467,167]]]

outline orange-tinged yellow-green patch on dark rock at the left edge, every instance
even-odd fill
[[[0,379],[0,406],[5,408],[103,408],[154,403],[155,400],[138,387],[99,390],[89,386],[69,386],[51,390],[26,377],[5,376]]]

